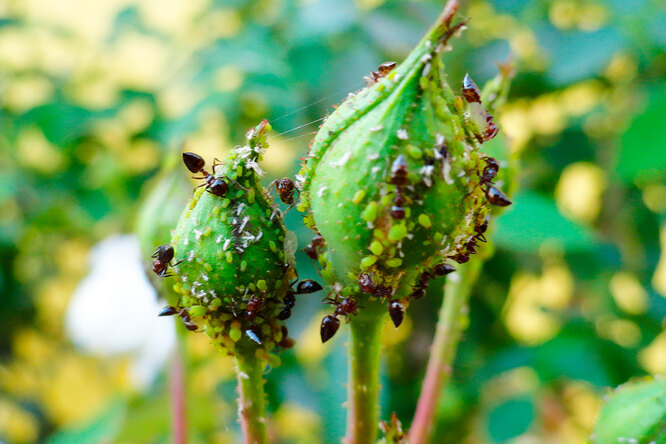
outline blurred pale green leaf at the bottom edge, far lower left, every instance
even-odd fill
[[[45,444],[98,444],[111,442],[120,431],[125,420],[124,401],[112,402],[97,418],[76,428],[61,430],[51,435]]]

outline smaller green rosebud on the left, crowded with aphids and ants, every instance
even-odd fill
[[[171,240],[183,319],[202,326],[229,354],[260,358],[289,343],[278,316],[296,278],[291,237],[259,179],[269,129],[263,121],[251,130],[247,145],[234,148],[212,174],[198,156],[190,155],[200,162],[194,166],[185,159],[204,179]]]

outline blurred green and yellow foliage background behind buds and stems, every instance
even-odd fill
[[[145,184],[183,144],[210,164],[268,118],[266,183],[293,175],[318,119],[379,63],[402,60],[442,6],[0,2],[0,441],[169,442],[163,360],[143,382],[131,371],[159,347],[109,353],[69,339],[89,252],[133,232]],[[522,172],[433,442],[583,442],[609,387],[666,373],[666,3],[487,0],[461,11],[471,20],[445,56],[449,81],[469,72],[481,85],[513,60],[497,143],[520,153]],[[303,248],[311,232],[295,210],[287,223]],[[122,262],[100,270],[122,280]],[[411,420],[436,287],[386,329],[385,419]],[[107,330],[136,324],[130,293],[95,305]],[[266,375],[276,442],[343,433],[346,331],[320,344],[319,300],[299,299],[288,321],[298,344]],[[186,342],[191,442],[237,442],[231,361],[202,334]]]

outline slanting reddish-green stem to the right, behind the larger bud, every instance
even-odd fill
[[[458,279],[450,279],[447,283],[426,377],[409,431],[410,444],[428,442],[442,388],[451,378],[458,342],[468,323],[467,302],[482,265],[480,258],[461,265]]]

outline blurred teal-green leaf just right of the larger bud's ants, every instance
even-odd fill
[[[545,242],[567,251],[586,250],[594,245],[590,230],[560,214],[552,199],[532,191],[514,197],[513,205],[497,220],[497,245],[514,251],[536,252]]]

